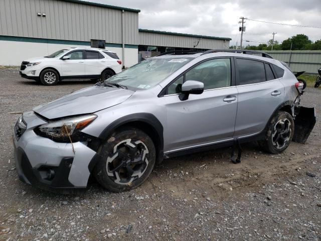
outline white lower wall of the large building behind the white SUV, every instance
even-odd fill
[[[89,47],[81,45],[30,43],[18,41],[0,41],[0,65],[19,66],[23,60],[52,54],[60,49],[70,47]],[[106,47],[116,52],[121,61],[122,49]],[[138,49],[125,48],[125,67],[130,67],[138,62]]]

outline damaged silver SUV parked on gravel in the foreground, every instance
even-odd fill
[[[264,56],[264,55],[263,55]],[[164,158],[259,141],[290,144],[302,90],[269,56],[207,51],[149,58],[24,113],[14,128],[22,181],[111,191],[139,186]]]

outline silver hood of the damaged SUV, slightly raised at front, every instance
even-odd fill
[[[94,113],[120,104],[133,93],[134,91],[128,89],[94,85],[39,105],[33,110],[48,119]]]

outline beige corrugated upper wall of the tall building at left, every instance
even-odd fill
[[[0,0],[0,35],[120,44],[121,15],[121,10],[59,0]],[[125,44],[138,45],[138,13],[125,11]]]

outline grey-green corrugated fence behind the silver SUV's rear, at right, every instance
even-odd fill
[[[273,50],[265,52],[274,59],[287,63],[293,72],[305,71],[317,74],[317,69],[321,67],[321,50]]]

